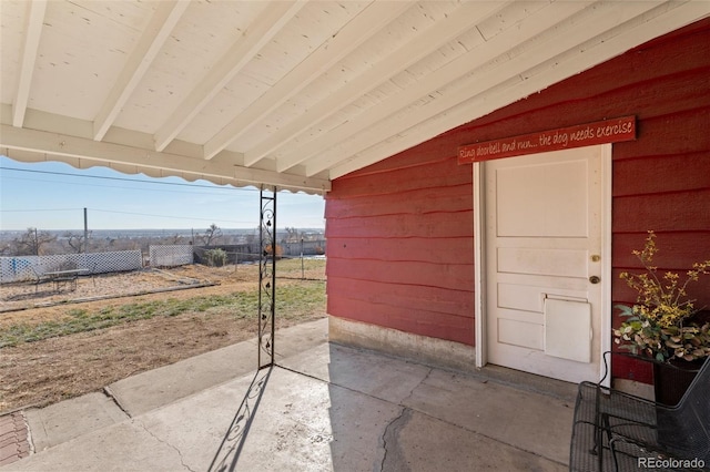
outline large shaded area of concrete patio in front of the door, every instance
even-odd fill
[[[318,349],[327,371],[306,372],[327,381],[335,471],[567,469],[565,401],[334,343]]]

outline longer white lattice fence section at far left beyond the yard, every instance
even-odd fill
[[[44,273],[65,268],[106,274],[143,268],[143,260],[140,250],[0,257],[0,284],[34,280]]]

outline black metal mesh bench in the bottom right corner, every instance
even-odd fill
[[[680,402],[667,406],[604,387],[609,357],[599,383],[579,384],[569,470],[710,471],[710,361]]]

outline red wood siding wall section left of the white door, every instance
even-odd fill
[[[432,141],[336,179],[325,212],[328,312],[471,345],[471,177]]]

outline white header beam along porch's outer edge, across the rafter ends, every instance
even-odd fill
[[[227,160],[207,162],[200,157],[160,153],[142,147],[97,142],[85,137],[47,131],[19,129],[7,124],[0,125],[0,148],[88,160],[102,165],[113,163],[148,170],[162,170],[168,174],[178,176],[189,174],[215,183],[224,183],[226,179],[235,185],[276,185],[312,193],[323,193],[331,189],[331,183],[326,178],[244,167],[234,165]]]

